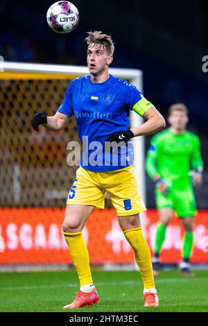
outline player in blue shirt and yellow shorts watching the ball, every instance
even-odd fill
[[[116,209],[123,234],[135,252],[135,259],[144,281],[144,306],[155,307],[159,300],[150,250],[142,234],[139,220],[139,213],[146,210],[146,207],[138,191],[131,153],[128,153],[125,164],[121,164],[121,159],[126,156],[123,148],[126,150],[129,139],[157,132],[164,128],[165,121],[135,86],[109,74],[108,69],[114,53],[112,37],[94,31],[89,32],[85,40],[89,75],[72,80],[62,105],[53,117],[46,117],[46,113],[36,113],[32,121],[35,130],[38,130],[40,124],[49,130],[60,130],[74,114],[83,151],[85,151],[84,137],[87,137],[89,144],[93,144],[94,141],[102,146],[107,143],[114,144],[114,148],[107,152],[110,158],[108,156],[105,162],[103,155],[98,164],[91,162],[94,151],[89,146],[88,157],[86,155],[82,157],[67,198],[62,230],[78,273],[80,291],[75,300],[63,308],[84,307],[98,301],[82,230],[94,208],[104,208],[107,191]],[[146,119],[141,126],[131,130],[128,129],[130,110]],[[114,149],[121,140],[121,147],[117,151],[118,163],[115,164]],[[99,157],[102,156],[100,154],[102,153],[99,153]]]

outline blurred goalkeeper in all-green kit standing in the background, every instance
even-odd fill
[[[200,140],[186,130],[188,122],[187,107],[183,103],[171,105],[168,111],[168,123],[171,127],[151,139],[146,157],[146,170],[156,184],[156,205],[160,216],[153,257],[155,276],[159,275],[161,268],[159,254],[173,211],[177,218],[181,218],[185,231],[180,271],[182,275],[193,276],[189,259],[193,247],[194,216],[197,211],[191,174],[193,184],[200,186],[203,162],[200,155]]]

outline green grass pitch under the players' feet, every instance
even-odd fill
[[[208,271],[182,277],[164,271],[156,278],[160,305],[144,308],[141,275],[137,271],[93,271],[100,300],[73,312],[208,311]],[[0,311],[63,311],[78,291],[74,271],[0,273]],[[66,311],[63,311],[63,314]]]

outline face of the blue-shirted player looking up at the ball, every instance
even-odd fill
[[[112,55],[108,55],[101,44],[89,44],[87,48],[87,66],[89,73],[97,76],[108,68],[112,62]]]

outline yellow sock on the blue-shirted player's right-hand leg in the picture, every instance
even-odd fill
[[[144,289],[153,289],[155,287],[155,282],[150,248],[148,247],[148,243],[144,238],[141,228],[130,229],[124,231],[123,234],[135,252],[135,259],[144,282]]]

